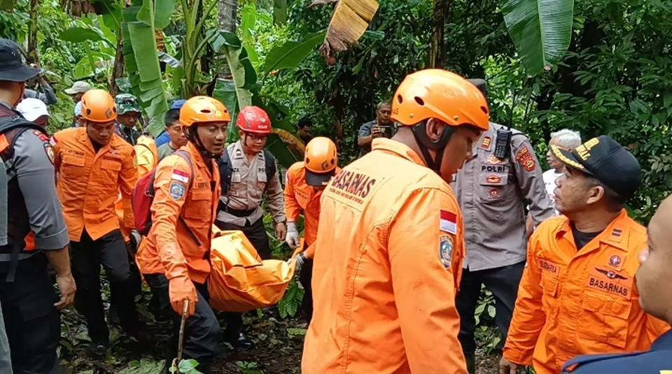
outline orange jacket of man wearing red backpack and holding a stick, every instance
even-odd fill
[[[156,168],[151,231],[136,256],[143,274],[164,274],[170,280],[187,274],[204,283],[210,273],[210,245],[221,186],[214,159],[204,159],[192,143],[192,166],[179,154]],[[208,165],[209,164],[209,165]]]

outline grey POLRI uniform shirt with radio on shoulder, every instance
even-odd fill
[[[525,261],[525,205],[535,226],[554,216],[539,161],[527,136],[512,129],[509,156],[495,157],[500,124],[474,145],[474,158],[456,173],[453,187],[464,217],[464,268],[480,271]]]

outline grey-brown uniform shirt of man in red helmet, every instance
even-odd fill
[[[264,192],[267,194],[268,209],[276,223],[285,222],[285,198],[280,178],[276,171],[271,180],[266,180],[266,158],[264,152],[259,152],[252,161],[248,161],[241,141],[232,143],[226,148],[229,152],[233,174],[231,186],[227,196],[221,197],[221,201],[228,208],[235,210],[253,210],[248,217],[237,217],[220,210],[217,220],[236,226],[245,226],[246,222],[254,223],[264,215],[261,202]],[[268,185],[268,187],[266,187]]]

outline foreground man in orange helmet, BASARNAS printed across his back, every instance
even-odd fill
[[[447,181],[488,117],[461,76],[412,73],[393,96],[397,133],[329,182],[303,374],[467,373],[455,308],[462,219]]]

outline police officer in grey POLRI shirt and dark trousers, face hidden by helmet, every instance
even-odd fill
[[[484,80],[470,81],[486,95]],[[470,373],[475,373],[474,312],[481,285],[495,298],[495,319],[503,334],[497,348],[501,349],[526,260],[525,206],[529,203],[535,226],[554,215],[529,139],[512,129],[507,157],[496,157],[500,129],[505,127],[490,123],[474,145],[474,158],[465,162],[451,186],[464,220],[466,258],[456,308],[460,315],[458,338]]]

